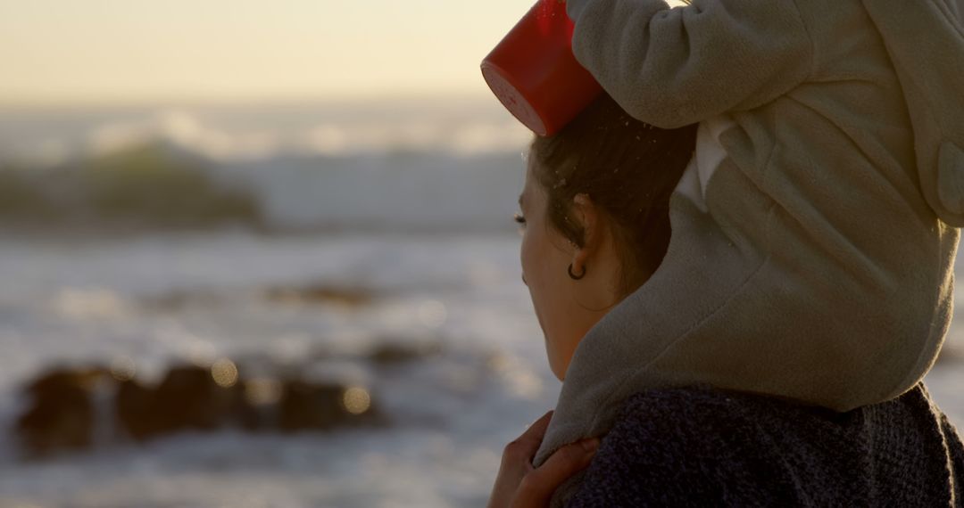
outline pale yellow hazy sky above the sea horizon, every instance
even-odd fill
[[[489,92],[525,0],[0,0],[0,104]]]

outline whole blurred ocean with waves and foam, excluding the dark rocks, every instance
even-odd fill
[[[559,392],[512,221],[529,136],[495,99],[0,111],[0,507],[484,505]],[[953,421],[962,335],[927,379]],[[390,423],[18,453],[44,368],[216,359],[348,380]]]

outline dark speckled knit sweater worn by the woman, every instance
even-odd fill
[[[964,446],[923,384],[847,413],[705,388],[627,400],[567,506],[962,506]]]

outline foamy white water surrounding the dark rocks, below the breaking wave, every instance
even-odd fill
[[[350,358],[382,341],[442,344],[438,358],[410,368],[348,366],[362,370],[398,417],[388,431],[185,435],[28,465],[6,442],[0,506],[484,504],[501,446],[547,411],[558,390],[517,249],[512,234],[0,239],[5,423],[20,382],[55,360],[122,355],[150,378],[199,350],[303,362],[323,352]],[[262,292],[307,283],[351,284],[376,298],[348,310]],[[179,303],[159,306],[170,295]]]

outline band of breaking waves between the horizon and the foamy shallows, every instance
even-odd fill
[[[0,224],[505,231],[532,135],[494,103],[0,111]]]

